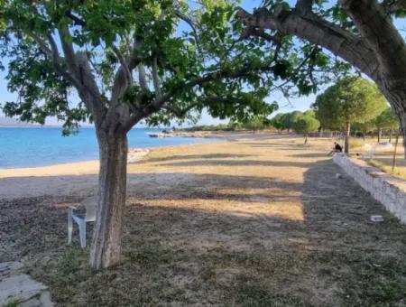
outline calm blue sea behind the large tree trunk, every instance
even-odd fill
[[[152,138],[158,129],[135,128],[128,133],[129,147],[145,148],[213,142],[192,137]],[[78,135],[62,136],[58,127],[0,127],[0,169],[44,166],[98,159],[96,131],[80,128]]]

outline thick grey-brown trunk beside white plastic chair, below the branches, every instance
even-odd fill
[[[90,250],[90,265],[94,269],[120,261],[128,151],[125,133],[98,131],[97,141],[100,171],[97,217]]]

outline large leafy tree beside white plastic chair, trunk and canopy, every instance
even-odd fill
[[[126,134],[135,124],[170,124],[203,108],[242,120],[274,109],[264,102],[272,79],[263,74],[279,71],[275,55],[238,40],[232,11],[226,0],[0,3],[0,52],[9,59],[8,88],[17,93],[5,114],[42,124],[56,116],[65,134],[85,120],[96,127],[93,268],[120,260]],[[188,28],[178,31],[180,23]]]

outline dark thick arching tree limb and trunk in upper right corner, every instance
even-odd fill
[[[320,46],[373,79],[400,120],[406,148],[406,43],[393,23],[405,12],[402,0],[337,0],[333,5],[297,0],[294,7],[265,0],[253,14],[240,9],[239,18],[246,36],[283,36],[288,43],[296,36],[305,41],[302,45]]]

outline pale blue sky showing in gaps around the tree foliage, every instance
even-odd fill
[[[294,5],[296,3],[296,0],[289,0],[288,1],[291,5]],[[330,0],[330,3],[336,2],[333,0]],[[262,3],[262,0],[243,0],[241,6],[245,8],[248,12],[252,12],[254,7],[259,7]],[[406,28],[405,23],[401,21],[401,28]],[[0,104],[5,102],[5,101],[13,101],[15,98],[14,93],[10,93],[7,90],[7,81],[5,79],[6,76],[6,70],[1,71],[0,70]],[[283,98],[280,93],[271,93],[271,95],[267,98],[267,101],[272,102],[272,101],[278,101],[280,103],[279,110],[275,112],[275,114],[279,112],[291,112],[292,110],[298,109],[301,111],[309,109],[310,105],[314,102],[316,98],[316,95],[309,95],[307,97],[300,97],[300,98],[290,98],[290,101],[288,102],[286,98]],[[0,111],[0,116],[1,111]],[[220,122],[226,123],[226,121],[220,121],[217,118],[213,118],[208,115],[207,112],[203,112],[201,119],[198,122],[198,125],[215,125]],[[48,125],[58,125],[59,123],[55,118],[49,118],[47,119],[46,124]]]

